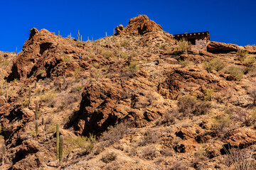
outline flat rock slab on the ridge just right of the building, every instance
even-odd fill
[[[227,52],[237,52],[239,49],[238,45],[226,44],[223,42],[211,41],[207,45],[207,51],[212,53],[227,53]]]

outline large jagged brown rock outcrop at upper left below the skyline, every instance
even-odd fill
[[[73,47],[64,38],[60,38],[48,30],[38,31],[31,29],[31,35],[23,45],[22,52],[14,59],[14,64],[9,74],[8,80],[20,79],[24,81],[30,77],[60,76],[72,74],[76,67],[85,69],[85,61],[74,63],[72,60],[68,64],[72,67],[58,68],[63,63],[65,57],[78,60],[81,48]]]

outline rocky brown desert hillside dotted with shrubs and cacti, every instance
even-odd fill
[[[253,45],[198,50],[140,15],[87,42],[32,28],[0,57],[1,169],[256,167]]]

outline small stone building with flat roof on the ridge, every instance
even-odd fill
[[[201,33],[183,33],[174,35],[175,40],[187,40],[188,44],[196,45],[197,48],[206,49],[206,45],[210,42],[210,34],[208,31]]]

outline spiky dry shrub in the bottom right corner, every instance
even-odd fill
[[[255,155],[254,149],[252,148],[231,148],[225,149],[228,156],[225,164],[227,166],[233,166],[235,170],[252,170],[255,169]]]

